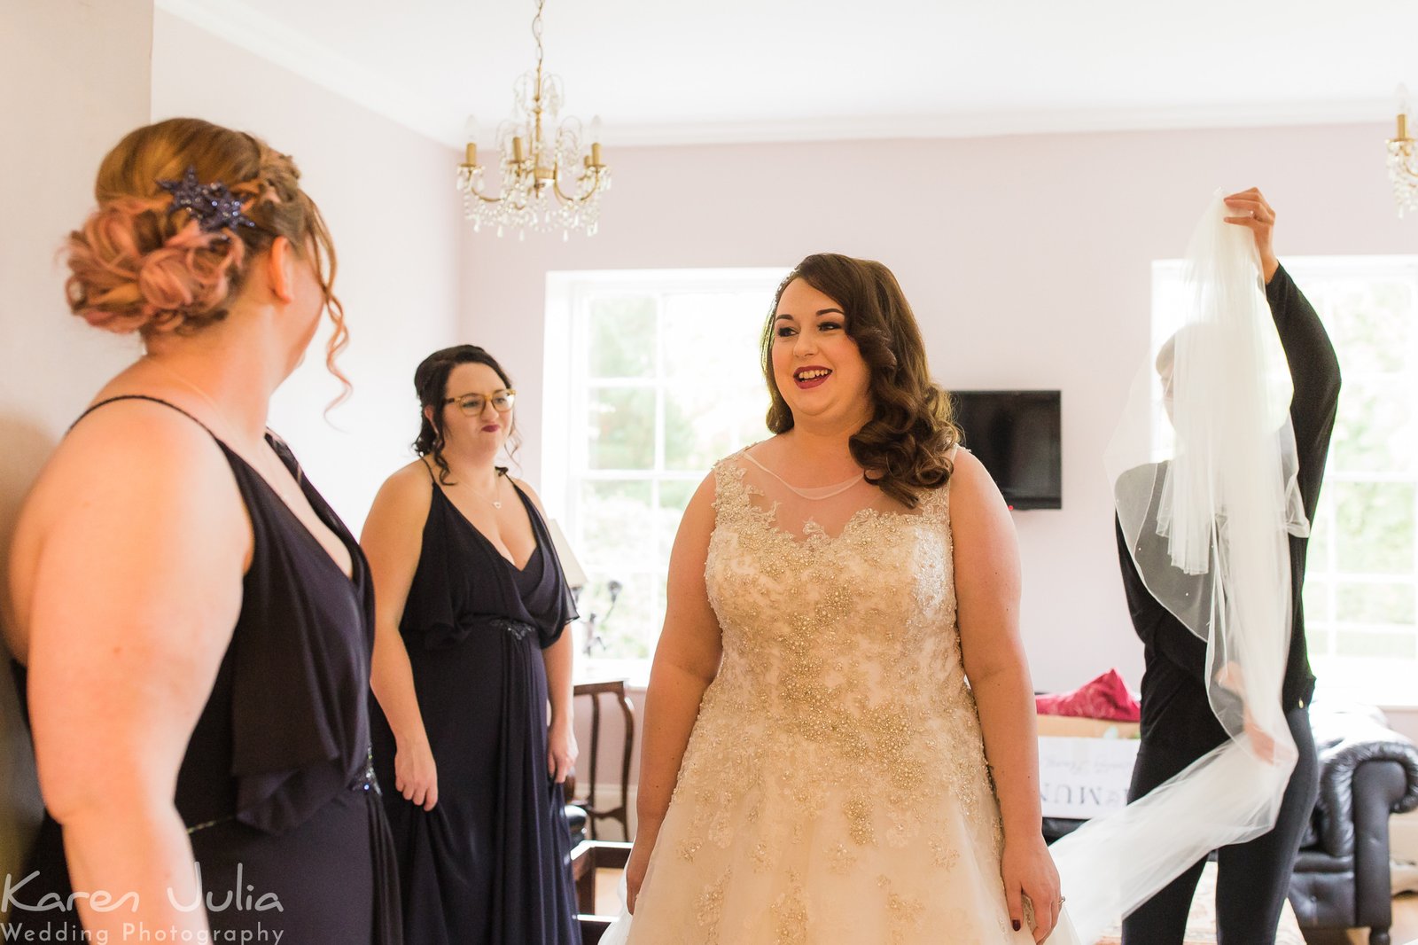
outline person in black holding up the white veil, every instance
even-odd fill
[[[1290,423],[1299,458],[1297,484],[1305,514],[1313,521],[1339,406],[1339,360],[1319,315],[1275,257],[1271,243],[1275,211],[1265,197],[1252,189],[1227,197],[1227,206],[1236,213],[1228,223],[1249,227],[1261,253],[1266,299],[1295,387]],[[1289,541],[1293,617],[1282,701],[1299,759],[1280,802],[1275,829],[1249,843],[1218,851],[1217,929],[1224,942],[1252,945],[1275,941],[1300,834],[1319,793],[1314,739],[1306,708],[1314,692],[1314,675],[1306,654],[1300,602],[1309,539],[1292,535]],[[1157,551],[1139,548],[1136,553]],[[1141,748],[1129,792],[1133,800],[1221,745],[1228,735],[1207,700],[1205,641],[1149,593],[1120,525],[1117,553],[1133,627],[1143,640],[1146,657]],[[1204,863],[1194,864],[1129,915],[1123,922],[1123,942],[1181,942],[1202,867]]]

